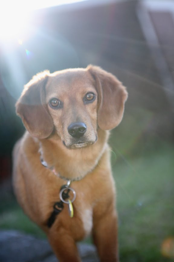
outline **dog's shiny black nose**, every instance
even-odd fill
[[[75,138],[83,136],[85,132],[86,125],[83,122],[75,122],[68,126],[68,133]]]

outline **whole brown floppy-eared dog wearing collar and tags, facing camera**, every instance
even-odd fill
[[[106,130],[121,122],[126,99],[116,77],[89,65],[37,74],[16,104],[27,132],[13,152],[14,190],[60,261],[81,261],[76,241],[89,233],[102,262],[118,261]]]

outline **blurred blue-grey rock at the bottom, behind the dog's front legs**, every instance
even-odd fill
[[[99,261],[93,245],[79,244],[78,248],[82,262]],[[0,231],[0,262],[57,261],[47,240],[15,230]]]

